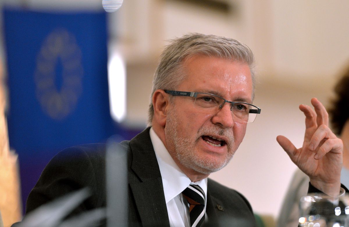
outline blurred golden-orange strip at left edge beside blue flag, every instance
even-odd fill
[[[0,63],[0,213],[5,227],[21,219],[17,155],[8,146],[5,88]],[[1,220],[1,219],[0,219]]]

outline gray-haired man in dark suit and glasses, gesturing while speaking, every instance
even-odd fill
[[[247,123],[261,109],[254,97],[253,54],[230,38],[188,34],[164,49],[153,81],[148,128],[127,150],[129,226],[255,226],[247,199],[208,178],[226,166]],[[302,148],[277,141],[310,177],[310,190],[340,191],[342,141],[328,128],[325,108],[306,105]],[[68,148],[46,166],[30,193],[27,212],[63,194],[89,187],[74,213],[106,204],[105,145]],[[69,158],[67,158],[69,156]],[[63,164],[64,163],[64,164]]]

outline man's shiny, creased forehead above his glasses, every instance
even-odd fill
[[[195,55],[187,59],[185,69],[179,86],[183,89],[215,94],[230,101],[252,101],[251,71],[245,62]]]

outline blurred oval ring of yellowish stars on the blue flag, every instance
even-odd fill
[[[51,32],[36,59],[36,95],[43,111],[61,120],[76,107],[82,93],[81,50],[73,34],[65,29]]]

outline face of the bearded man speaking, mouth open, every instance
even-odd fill
[[[195,55],[184,62],[187,78],[177,88],[205,92],[229,101],[252,103],[252,79],[246,63]],[[175,96],[165,124],[165,146],[181,169],[209,174],[222,169],[242,142],[247,123],[234,122],[230,105],[217,114],[195,111],[191,97]]]

